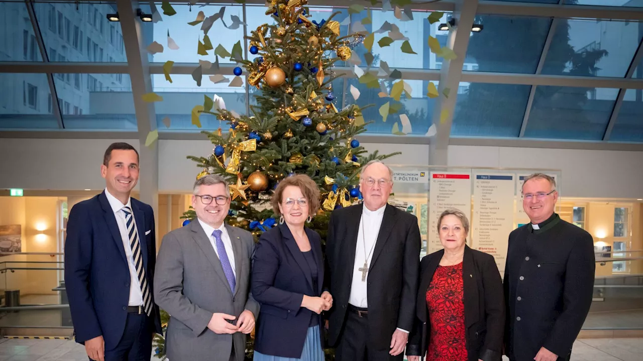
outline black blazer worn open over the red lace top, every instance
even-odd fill
[[[469,361],[502,360],[505,301],[500,271],[491,254],[464,246],[462,282],[464,283],[464,326]],[[424,355],[431,336],[431,321],[426,306],[433,274],[444,249],[422,258],[421,281],[417,292],[417,319],[409,337],[406,355]]]

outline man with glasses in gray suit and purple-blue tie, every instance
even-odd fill
[[[259,304],[250,290],[252,234],[224,224],[230,189],[219,175],[194,184],[197,220],[163,237],[154,299],[170,313],[170,361],[242,361]]]

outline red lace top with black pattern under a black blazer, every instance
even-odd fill
[[[438,266],[426,290],[431,321],[427,361],[466,361],[462,263]]]

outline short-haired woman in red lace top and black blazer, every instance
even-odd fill
[[[469,248],[469,220],[447,209],[438,220],[441,251],[422,259],[409,361],[500,361],[505,323],[502,280],[491,254]]]

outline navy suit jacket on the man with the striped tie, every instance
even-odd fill
[[[131,204],[150,296],[153,297],[154,213],[152,207],[134,198],[131,198]],[[145,234],[147,231],[150,232]],[[106,350],[118,345],[125,330],[130,280],[116,216],[105,191],[78,202],[69,212],[65,240],[65,286],[78,343],[84,344],[86,340],[102,335]],[[162,333],[156,304],[152,317],[154,330]]]

